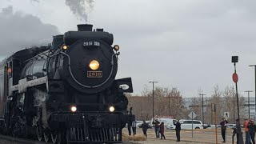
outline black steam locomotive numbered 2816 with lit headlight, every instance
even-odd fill
[[[54,36],[0,63],[0,130],[54,143],[117,143],[134,120],[125,92],[131,78],[115,79],[119,46],[92,25]]]

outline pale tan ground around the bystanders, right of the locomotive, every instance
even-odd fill
[[[217,131],[218,143],[222,143],[222,134],[221,130]],[[123,130],[123,133],[127,134],[127,129]],[[143,134],[142,129],[137,129],[137,134]],[[165,130],[166,140],[155,138],[154,129],[148,130],[148,138],[146,141],[138,142],[143,144],[159,144],[159,143],[216,143],[216,134],[215,129],[204,129],[204,130],[194,130],[193,138],[191,130],[182,130],[181,131],[181,140],[182,142],[176,142],[175,130]],[[243,134],[245,137],[245,134]],[[232,143],[232,130],[228,129],[226,134],[227,142],[226,144]],[[236,140],[235,140],[236,142]]]

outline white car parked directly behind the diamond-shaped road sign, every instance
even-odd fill
[[[202,122],[199,120],[182,120],[181,123],[181,129],[189,129],[192,130],[192,122],[193,122],[193,129],[203,129]]]

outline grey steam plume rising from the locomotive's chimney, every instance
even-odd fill
[[[94,0],[66,0],[66,6],[79,20],[87,22],[87,14],[94,8]]]

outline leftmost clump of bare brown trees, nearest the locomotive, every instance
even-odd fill
[[[137,119],[149,120],[153,117],[152,90],[144,87],[141,97],[129,97],[129,106],[133,107]],[[169,101],[170,100],[170,101]],[[184,111],[181,92],[177,88],[155,87],[154,115],[180,117]]]

